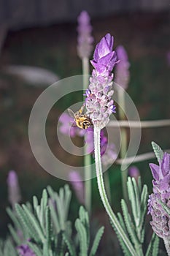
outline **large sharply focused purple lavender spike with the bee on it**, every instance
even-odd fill
[[[112,69],[118,61],[112,48],[113,37],[107,34],[96,45],[93,61],[91,61],[94,69],[86,91],[86,108],[93,125],[98,129],[104,128],[109,122],[111,113],[115,113],[115,105],[111,98]]]

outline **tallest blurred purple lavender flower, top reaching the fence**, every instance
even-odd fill
[[[77,21],[77,53],[80,59],[89,58],[91,51],[93,50],[93,37],[91,36],[92,26],[90,25],[90,17],[88,12],[82,11],[77,18]]]

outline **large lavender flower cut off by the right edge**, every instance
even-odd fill
[[[170,217],[161,206],[160,200],[170,207],[170,154],[163,154],[159,166],[150,164],[154,180],[153,193],[148,200],[148,213],[152,216],[152,229],[163,239],[170,237]]]

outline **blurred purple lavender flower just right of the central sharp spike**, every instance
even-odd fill
[[[115,69],[115,83],[118,83],[118,85],[122,86],[123,89],[127,89],[130,78],[130,73],[128,70],[130,67],[128,55],[122,45],[117,46],[116,53],[120,63],[117,64]]]

